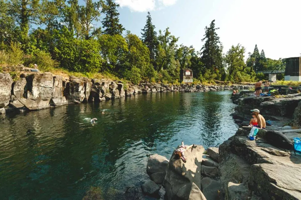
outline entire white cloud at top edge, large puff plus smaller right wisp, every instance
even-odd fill
[[[171,6],[177,0],[116,0],[120,7],[129,7],[132,11],[145,12],[154,10],[157,4]]]

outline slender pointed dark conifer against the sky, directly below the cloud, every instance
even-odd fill
[[[157,51],[157,32],[155,31],[155,26],[151,22],[151,13],[147,13],[146,17],[146,25],[144,26],[142,34],[142,41],[147,46],[147,48],[150,50],[150,59],[151,63],[154,64],[156,51]]]

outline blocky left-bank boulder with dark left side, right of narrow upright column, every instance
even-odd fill
[[[65,88],[68,103],[81,103],[85,98],[84,81],[75,76],[70,76]]]

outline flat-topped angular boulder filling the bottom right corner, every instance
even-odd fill
[[[252,180],[262,199],[301,199],[301,168],[275,164],[251,166]]]

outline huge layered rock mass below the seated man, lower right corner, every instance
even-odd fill
[[[301,158],[269,144],[267,132],[250,141],[249,131],[242,127],[219,146],[222,192],[228,199],[301,199]]]

